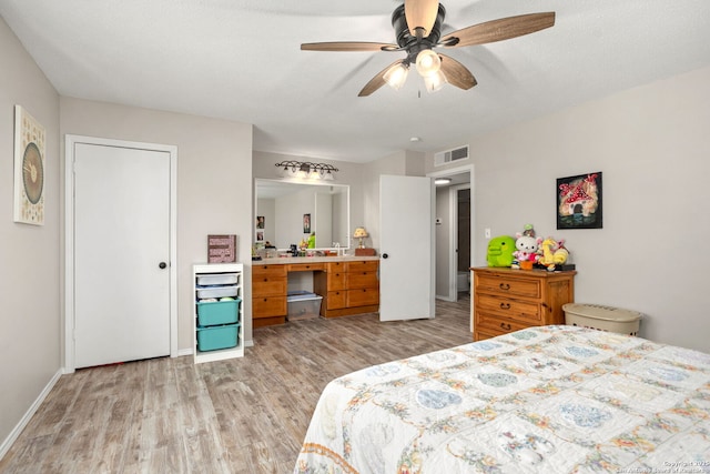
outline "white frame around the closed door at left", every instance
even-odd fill
[[[87,143],[166,152],[170,155],[170,356],[178,354],[178,147],[95,137],[64,139],[64,337],[63,373],[75,370],[74,360],[74,147]]]

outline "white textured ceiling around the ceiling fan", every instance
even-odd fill
[[[394,0],[0,0],[60,94],[254,124],[254,149],[367,162],[479,133],[710,64],[709,0],[448,0],[442,33],[556,12],[555,27],[446,53],[478,81],[428,94],[357,93],[402,52],[301,51],[396,42]],[[420,138],[412,142],[412,137]]]

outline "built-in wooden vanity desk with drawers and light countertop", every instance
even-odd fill
[[[284,324],[288,273],[313,272],[313,292],[323,296],[324,317],[379,310],[379,258],[297,256],[252,263],[252,325]]]

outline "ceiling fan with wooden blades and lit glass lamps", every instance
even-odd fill
[[[446,82],[467,90],[477,83],[474,74],[455,59],[434,52],[435,48],[485,44],[534,33],[555,24],[555,12],[529,13],[474,24],[442,38],[444,17],[446,17],[446,9],[437,0],[405,0],[404,4],[397,7],[392,13],[392,26],[395,29],[397,44],[335,41],[303,43],[301,49],[406,52],[406,58],[396,60],[367,82],[359,91],[359,97],[369,95],[384,84],[400,89],[410,64],[415,64],[429,92],[439,90]]]

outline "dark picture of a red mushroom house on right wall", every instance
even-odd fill
[[[601,172],[557,179],[557,229],[601,229]]]

